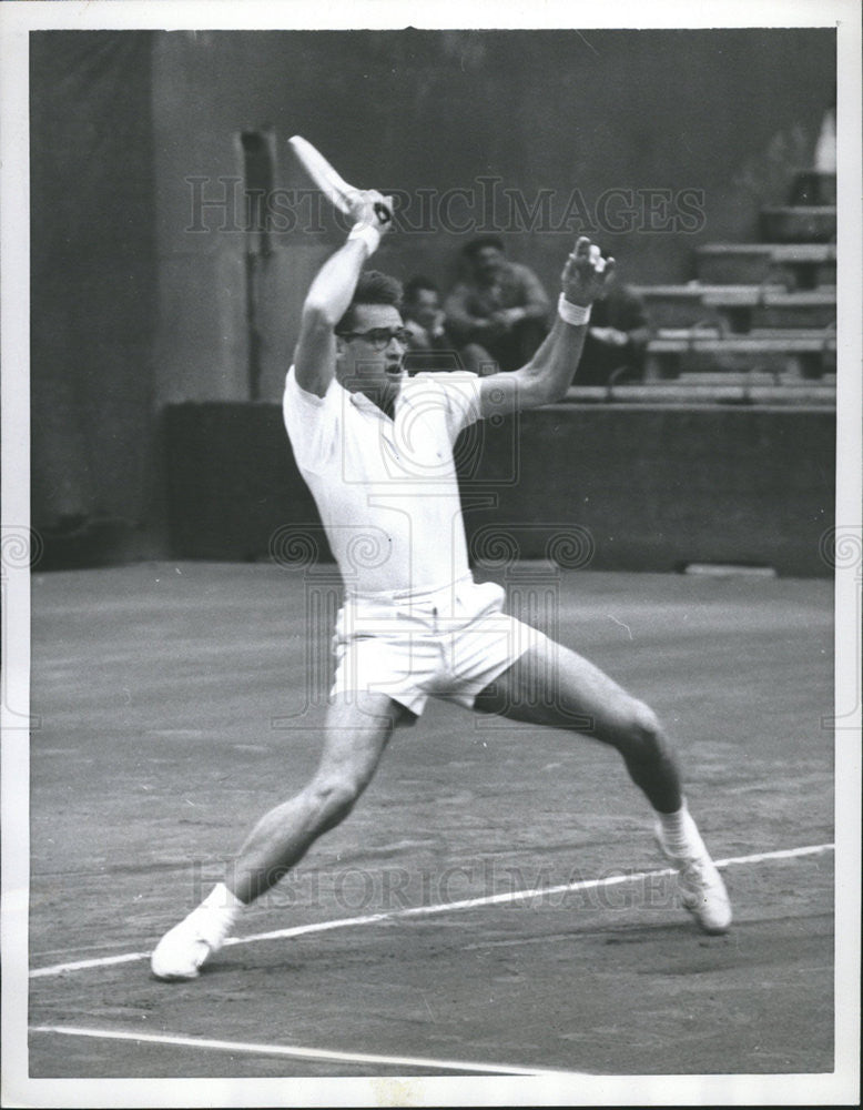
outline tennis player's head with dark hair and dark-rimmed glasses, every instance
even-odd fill
[[[347,335],[338,336],[336,373],[339,383],[372,400],[397,389],[406,345],[395,333],[402,314],[392,304],[357,304]]]

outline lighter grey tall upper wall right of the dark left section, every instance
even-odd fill
[[[830,30],[160,36],[160,396],[247,396],[247,236],[217,230],[224,208],[199,220],[209,232],[189,230],[195,190],[219,200],[230,194],[219,178],[242,174],[243,130],[272,129],[276,188],[308,185],[286,147],[299,133],[353,184],[407,192],[414,225],[420,190],[438,201],[453,189],[479,196],[481,178],[499,179],[498,191],[519,192],[528,206],[550,190],[551,226],[566,216],[573,189],[595,223],[608,190],[630,192],[634,214],[615,201],[609,215],[631,230],[599,238],[631,280],[680,281],[693,276],[699,243],[755,238],[759,206],[781,203],[793,169],[810,164],[834,92],[834,54]],[[190,178],[206,183],[193,186]],[[648,189],[703,193],[698,232],[668,221],[651,230],[662,221],[641,219]],[[375,264],[448,283],[468,236],[446,233],[440,215],[427,233],[385,241]],[[508,229],[511,255],[549,289],[579,231],[576,210],[569,229],[519,231],[502,198],[491,220],[481,203],[454,201],[450,215],[459,225],[473,216],[480,228]],[[273,236],[260,287],[264,398],[280,394],[305,287],[336,242],[328,215],[323,226],[308,230],[305,216]]]

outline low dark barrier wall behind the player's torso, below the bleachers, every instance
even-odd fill
[[[470,549],[541,559],[569,537],[569,565],[593,569],[828,574],[834,423],[823,411],[561,405],[481,424],[457,450]],[[331,557],[280,406],[174,405],[166,432],[177,557],[308,559],[309,545]]]

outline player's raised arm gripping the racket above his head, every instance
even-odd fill
[[[356,220],[347,242],[331,255],[312,282],[303,304],[299,339],[294,352],[296,380],[301,389],[323,397],[336,365],[335,326],[354,296],[359,272],[393,221],[382,221],[380,202],[392,212],[392,199],[375,190],[357,193],[353,205]]]

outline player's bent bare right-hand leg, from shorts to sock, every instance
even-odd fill
[[[483,690],[476,708],[610,744],[654,809],[680,809],[677,761],[656,714],[568,647],[549,639],[530,648]]]

